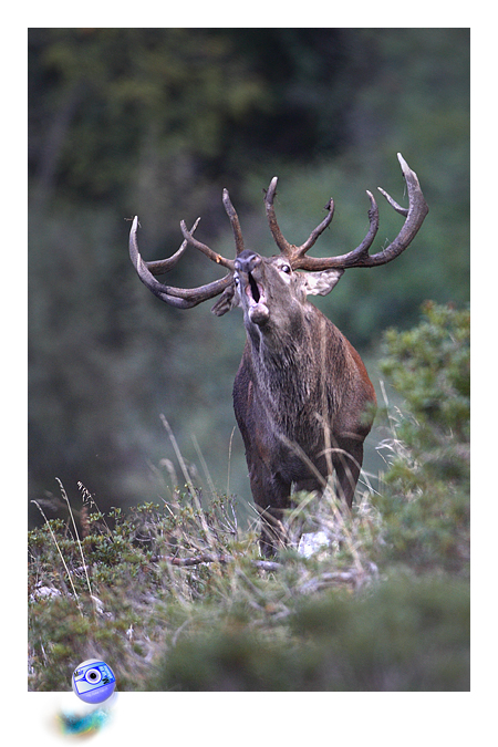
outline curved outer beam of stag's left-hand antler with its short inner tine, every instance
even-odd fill
[[[198,221],[196,221],[194,225],[193,231],[195,230],[197,222]],[[225,278],[220,278],[219,280],[215,280],[214,282],[207,283],[206,286],[200,286],[198,288],[174,288],[170,286],[165,286],[164,283],[156,280],[148,267],[148,263],[145,262],[141,257],[136,239],[137,227],[138,218],[135,216],[129,231],[129,257],[142,282],[154,293],[154,295],[157,295],[157,298],[159,298],[162,301],[165,301],[166,303],[169,303],[169,305],[177,309],[191,309],[203,301],[207,301],[215,295],[219,295],[219,293],[221,293],[232,282],[232,274],[229,272],[227,276],[225,276]],[[191,236],[191,231],[189,236]],[[187,239],[185,242],[186,241]],[[176,252],[176,255],[174,255],[174,257],[176,257],[175,261],[169,263],[167,269],[172,269],[176,264],[184,250],[184,245],[181,245],[180,249]],[[173,257],[169,259],[173,259]],[[162,272],[166,271],[164,261],[167,262],[168,260],[159,260],[159,262],[162,262]]]

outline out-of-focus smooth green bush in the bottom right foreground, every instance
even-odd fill
[[[151,689],[467,691],[463,581],[394,578],[300,600],[286,631],[228,619],[169,649]]]

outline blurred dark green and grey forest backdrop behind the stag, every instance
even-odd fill
[[[160,414],[198,464],[195,436],[219,490],[250,499],[237,433],[229,459],[241,315],[155,299],[128,258],[134,215],[146,259],[175,251],[179,221],[197,216],[197,236],[231,256],[227,187],[246,246],[273,253],[262,188],[277,174],[288,239],[301,242],[333,196],[313,253],[342,253],[366,231],[365,189],[403,203],[401,152],[430,208],[419,236],[318,304],[377,386],[386,328],[412,326],[426,299],[468,302],[467,29],[31,29],[29,115],[29,497],[49,517],[56,477],[104,511],[164,495]],[[374,251],[401,226],[378,204]],[[219,274],[189,250],[168,282]]]

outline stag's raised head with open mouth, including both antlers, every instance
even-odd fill
[[[274,215],[273,201],[277,191],[277,177],[274,177],[266,193],[264,205],[271,234],[280,250],[278,256],[262,257],[245,248],[239,218],[228,191],[225,189],[222,199],[234,231],[235,259],[221,257],[194,237],[198,224],[197,219],[190,231],[181,221],[184,242],[173,257],[155,262],[144,262],[138,252],[136,240],[138,219],[135,217],[129,234],[132,261],[141,280],[147,288],[170,305],[189,309],[221,294],[212,307],[212,312],[218,317],[225,314],[231,308],[240,305],[243,310],[246,325],[249,329],[259,328],[262,330],[273,326],[279,326],[279,329],[288,326],[293,323],[297,317],[305,313],[308,294],[325,295],[338,283],[344,270],[349,268],[376,267],[391,262],[414,239],[428,212],[428,207],[415,172],[409,168],[401,154],[397,157],[407,186],[408,207],[401,207],[381,187],[378,189],[396,212],[405,217],[405,222],[397,237],[376,255],[369,253],[378,229],[378,208],[370,191],[366,193],[370,199],[370,227],[363,241],[345,255],[314,258],[308,257],[307,252],[325,228],[330,226],[334,212],[334,203],[332,199],[325,206],[328,214],[324,220],[317,226],[301,246],[289,243],[282,236]],[[176,264],[187,246],[198,249],[217,264],[225,267],[228,273],[211,283],[191,289],[166,286],[156,280],[155,276],[168,272]]]

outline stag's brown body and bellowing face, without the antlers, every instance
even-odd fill
[[[338,491],[352,506],[375,408],[360,355],[307,300],[303,278],[281,266],[280,258],[248,251],[236,260],[247,343],[234,408],[267,554],[284,540],[282,512],[292,489],[323,491],[333,469]]]

